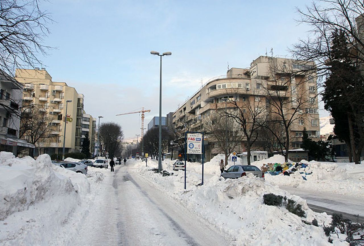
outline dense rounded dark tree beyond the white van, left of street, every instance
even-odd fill
[[[99,128],[100,142],[112,158],[118,152],[121,142],[124,138],[124,133],[119,124],[114,122],[105,122]]]

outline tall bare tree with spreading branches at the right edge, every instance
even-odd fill
[[[341,114],[333,113],[337,109],[332,106],[336,104],[338,108],[347,108],[345,113],[347,114],[346,121],[349,128],[348,146],[352,152],[349,155],[354,157],[356,163],[359,163],[360,154],[364,148],[364,128],[362,122],[364,117],[362,100],[364,84],[363,1],[318,0],[305,9],[298,9],[298,12],[301,16],[298,22],[308,24],[311,30],[309,37],[301,39],[298,44],[294,45],[291,51],[299,59],[315,60],[317,74],[325,81],[325,91],[331,90],[340,96],[340,100],[334,97],[326,97],[328,100],[326,101],[325,108],[333,114],[337,122],[343,119]],[[335,43],[334,39],[337,36],[335,35],[336,33],[340,33],[345,39],[343,42],[345,45],[339,47],[338,50],[335,50],[338,46],[333,45]],[[345,50],[348,50],[348,52]],[[338,54],[340,54],[339,59]],[[341,69],[343,73],[338,73],[341,65],[347,66],[347,69]],[[335,66],[335,71],[333,66]],[[344,66],[341,67],[343,68]],[[343,78],[348,77],[345,75],[345,71],[352,70],[350,67],[357,70],[359,76],[353,78],[350,75],[351,82],[348,82],[347,79]],[[340,79],[344,84],[330,83],[330,81],[340,81]],[[340,93],[340,86],[344,87],[342,93]],[[328,94],[326,93],[326,95]],[[329,102],[329,105],[327,102]],[[337,133],[339,132],[337,131]]]

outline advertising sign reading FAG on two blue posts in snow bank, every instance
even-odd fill
[[[186,162],[187,154],[202,155],[202,181],[203,184],[203,132],[186,132],[185,133],[185,190],[186,190]]]

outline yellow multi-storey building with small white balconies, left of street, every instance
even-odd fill
[[[84,95],[67,86],[65,82],[54,82],[48,72],[42,69],[16,69],[15,79],[24,86],[23,105],[37,105],[39,110],[50,118],[52,131],[46,140],[40,141],[37,148],[49,155],[80,152],[82,138],[89,133],[90,153],[95,148],[96,119],[83,109]],[[67,102],[68,101],[68,102]],[[67,110],[66,133],[64,132]]]

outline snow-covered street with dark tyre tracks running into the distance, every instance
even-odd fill
[[[116,165],[102,169],[104,184],[74,245],[228,245],[217,231]]]

